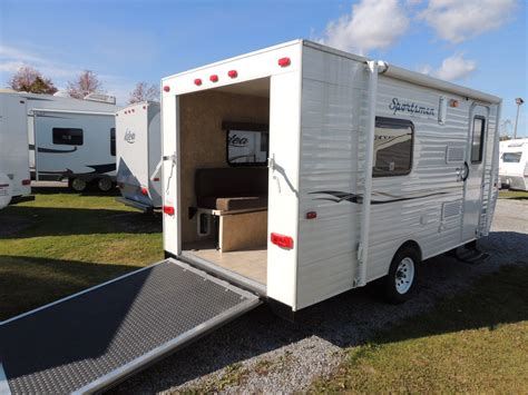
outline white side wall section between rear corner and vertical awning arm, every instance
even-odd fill
[[[303,49],[297,308],[352,288],[361,206],[315,191],[358,194],[368,110],[364,65]],[[316,211],[316,219],[306,213]]]

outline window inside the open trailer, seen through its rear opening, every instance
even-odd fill
[[[264,166],[270,151],[268,127],[261,124],[224,122],[227,130],[227,164],[229,166]]]

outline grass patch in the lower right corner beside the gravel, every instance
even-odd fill
[[[505,267],[430,313],[348,349],[315,392],[528,392],[528,268]]]

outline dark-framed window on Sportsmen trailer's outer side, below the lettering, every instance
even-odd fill
[[[411,172],[414,125],[405,119],[375,117],[373,177]]]

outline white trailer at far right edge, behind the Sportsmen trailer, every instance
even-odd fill
[[[502,187],[528,190],[528,138],[500,141],[499,177]]]

